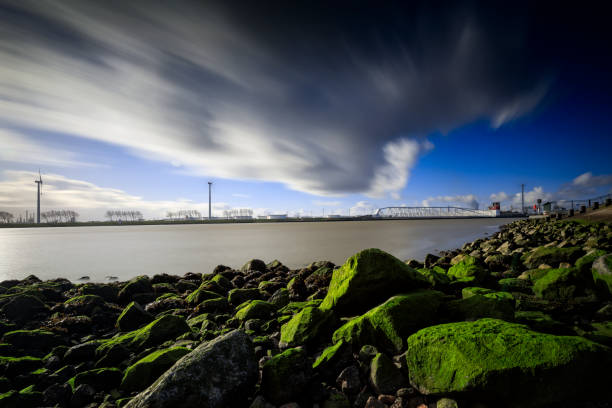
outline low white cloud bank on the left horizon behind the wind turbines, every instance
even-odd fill
[[[0,173],[0,209],[6,211],[33,210],[36,206],[38,173],[4,170]],[[93,183],[70,179],[59,174],[43,174],[42,211],[71,209],[81,214],[81,220],[101,220],[111,209],[141,211],[145,218],[163,218],[168,211],[198,210],[208,214],[208,202],[188,199],[146,200],[125,191],[100,187]],[[213,215],[221,216],[231,208],[227,203],[213,202]]]

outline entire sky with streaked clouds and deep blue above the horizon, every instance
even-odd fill
[[[612,192],[602,10],[404,3],[0,1],[0,210],[39,169],[81,220]]]

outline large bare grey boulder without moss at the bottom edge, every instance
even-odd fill
[[[257,377],[253,344],[235,330],[202,343],[125,407],[245,406]]]

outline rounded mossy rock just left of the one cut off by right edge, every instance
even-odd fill
[[[569,300],[584,293],[587,281],[576,268],[547,269],[533,285],[533,293],[548,300]]]

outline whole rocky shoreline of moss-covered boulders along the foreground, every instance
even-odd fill
[[[343,265],[0,282],[0,407],[612,407],[612,227]]]

